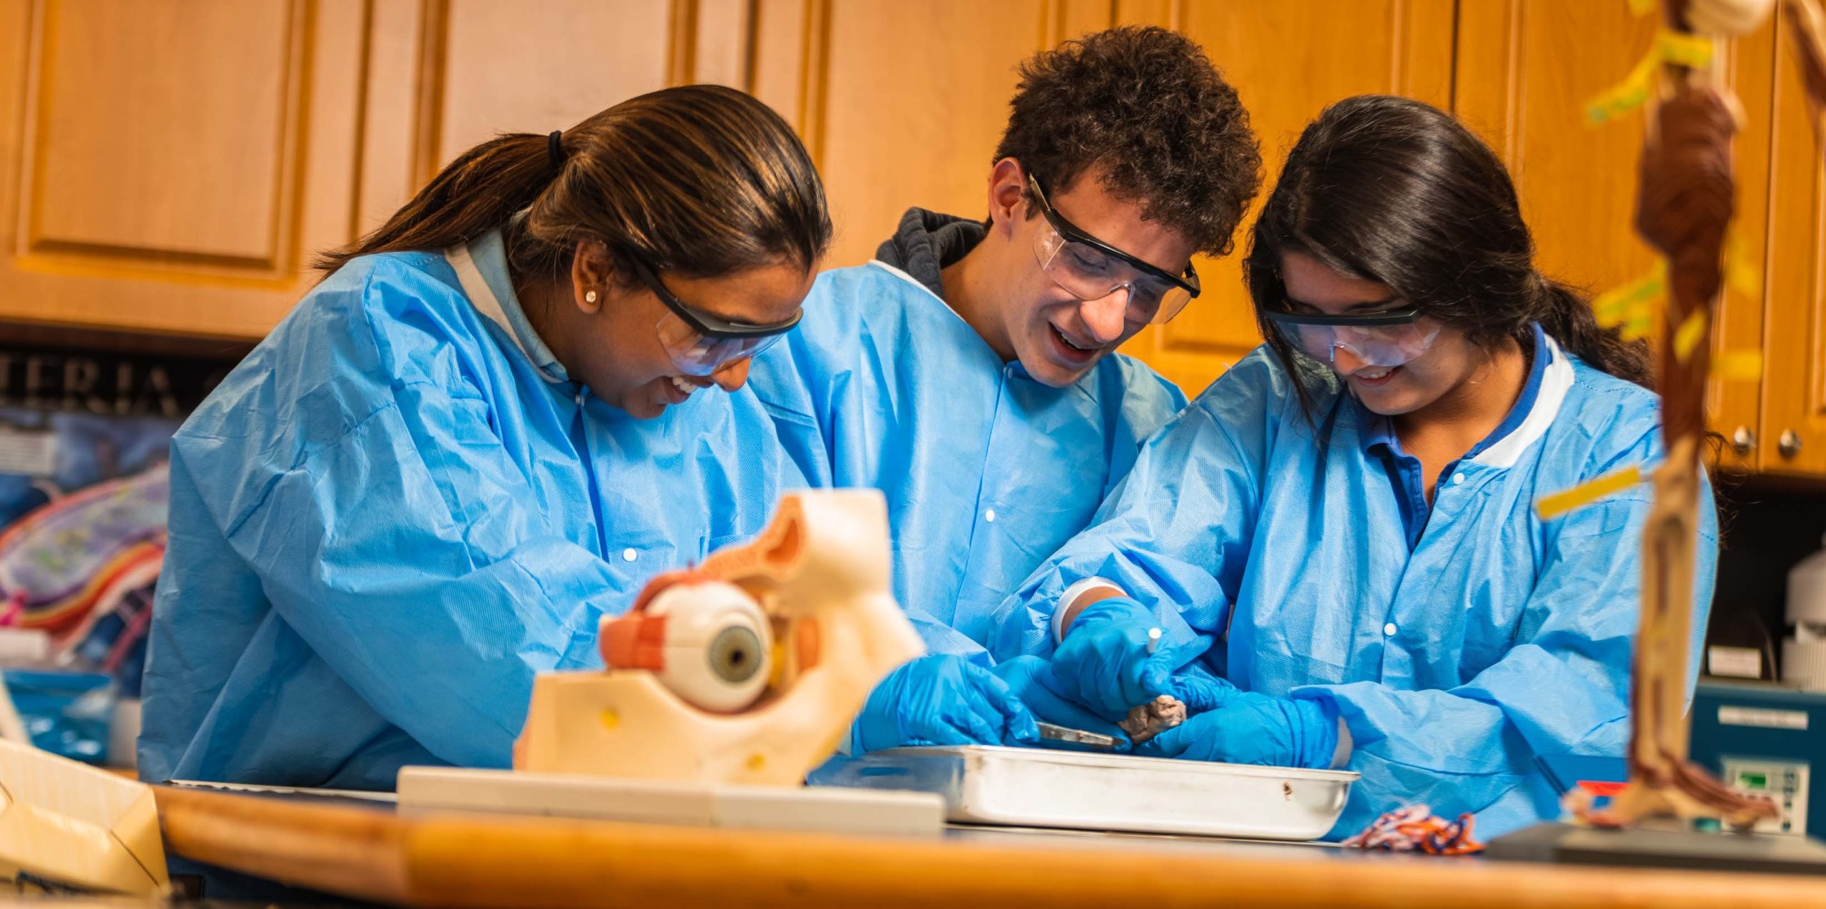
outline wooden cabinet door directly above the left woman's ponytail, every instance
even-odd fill
[[[550,133],[672,84],[747,88],[743,0],[369,0],[356,228],[497,133]]]

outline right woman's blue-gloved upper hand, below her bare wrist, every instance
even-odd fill
[[[1149,655],[1150,628],[1160,628],[1154,611],[1134,597],[1108,597],[1085,606],[1052,655],[1057,690],[1110,723],[1134,706],[1172,694],[1172,670],[1209,650],[1211,639],[1163,646]]]

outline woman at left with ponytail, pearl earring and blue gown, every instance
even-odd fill
[[[690,86],[475,146],[325,254],[172,440],[144,778],[506,767],[537,672],[803,484],[736,427],[829,241],[792,130]]]

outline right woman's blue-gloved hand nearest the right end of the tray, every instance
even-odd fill
[[[1338,716],[1329,705],[1234,692],[1223,706],[1187,717],[1136,754],[1322,770],[1337,748]]]

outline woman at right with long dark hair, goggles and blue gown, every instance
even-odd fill
[[[1267,343],[1002,606],[997,659],[1094,652],[1086,703],[1180,695],[1145,754],[1360,772],[1333,836],[1558,816],[1539,759],[1629,741],[1649,491],[1536,502],[1662,456],[1645,350],[1536,270],[1495,153],[1404,99],[1306,128],[1244,274]]]

